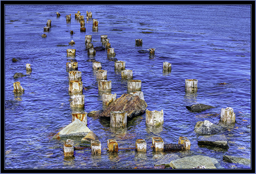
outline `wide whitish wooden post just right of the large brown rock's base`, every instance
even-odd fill
[[[163,124],[163,110],[148,111],[146,109],[146,124],[150,124],[154,126]]]

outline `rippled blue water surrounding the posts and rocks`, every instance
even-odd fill
[[[142,10],[143,9],[143,10]],[[98,31],[92,31],[92,20],[86,32],[80,32],[75,13],[92,11],[98,19]],[[56,16],[56,12],[61,14]],[[66,15],[72,14],[71,23]],[[52,20],[47,37],[44,27]],[[6,5],[5,6],[5,168],[154,168],[163,154],[150,147],[152,137],[165,143],[178,143],[181,136],[191,142],[180,157],[205,155],[216,158],[222,168],[250,168],[223,161],[223,155],[250,158],[250,6],[246,5]],[[70,34],[74,31],[74,35]],[[94,47],[101,46],[100,35],[110,38],[116,58],[133,70],[134,79],[142,81],[147,109],[163,110],[164,124],[157,128],[146,126],[145,114],[134,117],[121,133],[110,128],[110,121],[88,117],[88,127],[99,137],[102,154],[94,157],[90,151],[75,150],[73,159],[65,159],[62,146],[65,140],[51,139],[61,127],[71,123],[68,93],[69,62],[67,49],[76,49],[75,59],[82,72],[82,83],[90,86],[83,91],[85,112],[101,110],[96,75],[92,62],[87,60],[84,36],[92,35]],[[135,39],[142,38],[143,46],[136,47]],[[75,41],[74,46],[68,42]],[[62,46],[60,46],[62,45]],[[66,46],[65,46],[66,45]],[[155,56],[139,50],[155,48]],[[19,61],[12,62],[12,58]],[[106,51],[96,52],[112,80],[112,93],[117,98],[127,91],[127,81],[114,71]],[[163,74],[162,63],[172,63],[172,72]],[[32,73],[26,74],[26,63]],[[198,79],[198,92],[186,94],[185,79]],[[13,83],[19,81],[25,89],[14,95]],[[220,85],[219,83],[228,83]],[[186,105],[204,103],[215,106],[202,113],[192,113]],[[229,149],[200,147],[194,126],[209,120],[218,124],[221,108],[232,107],[236,113],[234,127],[223,130]],[[116,156],[105,150],[108,139],[116,139],[119,147],[133,147],[136,139],[145,139],[147,153],[119,150]],[[75,139],[78,146],[80,139]]]

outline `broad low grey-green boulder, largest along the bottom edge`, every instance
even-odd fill
[[[219,162],[215,158],[210,158],[202,155],[184,157],[170,162],[172,168],[194,168],[204,166],[205,168],[217,168]]]

